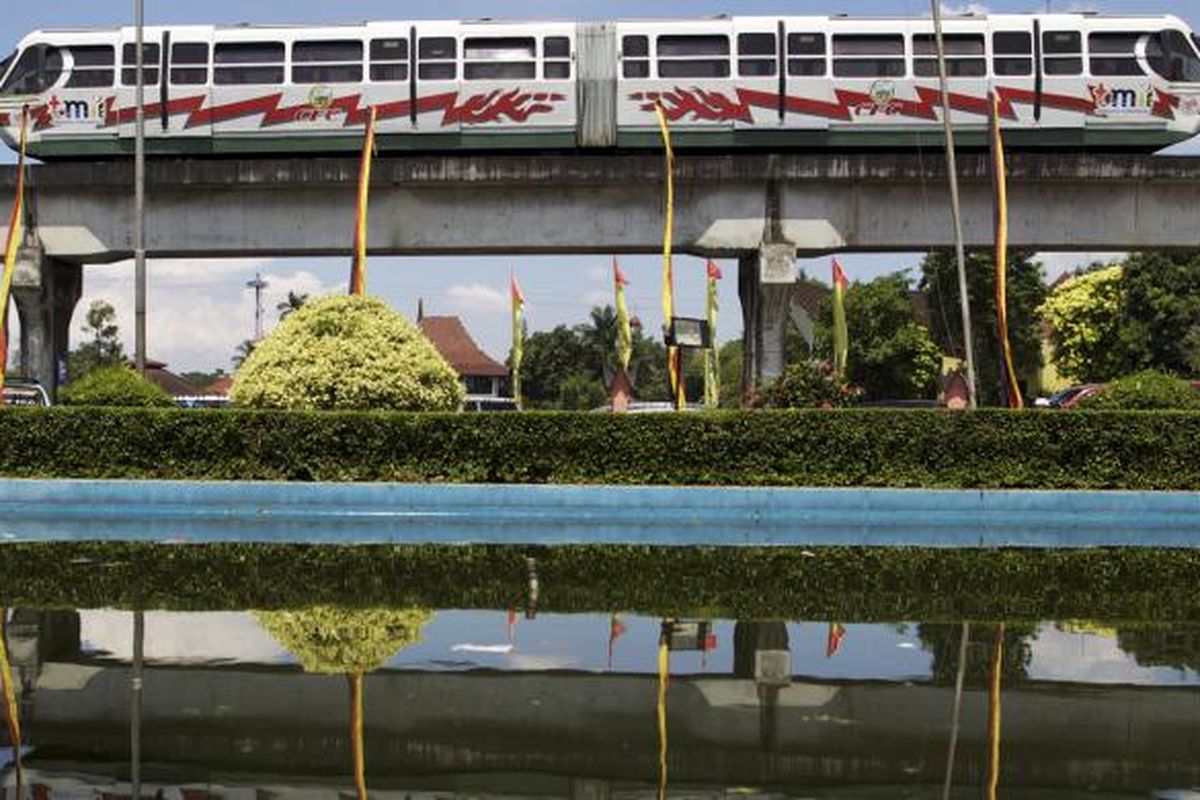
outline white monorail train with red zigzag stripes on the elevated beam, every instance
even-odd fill
[[[929,19],[161,26],[145,32],[149,151],[352,151],[368,108],[390,150],[656,145],[660,101],[694,148],[937,142]],[[37,31],[0,67],[0,136],[42,158],[132,150],[134,31]],[[1154,150],[1200,128],[1200,41],[1170,16],[946,23],[955,126],[990,92],[1012,146]]]

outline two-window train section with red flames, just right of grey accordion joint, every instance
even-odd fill
[[[727,19],[620,23],[617,119],[623,133],[656,134],[660,102],[672,131],[733,131],[745,118],[733,82],[733,26]],[[716,144],[713,139],[706,139]]]

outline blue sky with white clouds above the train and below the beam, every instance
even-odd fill
[[[896,14],[929,13],[928,0],[839,0],[830,5],[814,0],[442,0],[437,4],[397,0],[289,0],[289,2],[246,2],[245,0],[145,0],[148,24],[169,23],[322,23],[364,19],[413,18],[552,18],[595,19],[628,17],[704,17],[710,14]],[[988,0],[986,2],[944,4],[950,11],[1045,11],[1046,0]],[[1200,29],[1200,0],[1049,0],[1052,11],[1094,10],[1120,13],[1175,13]],[[5,2],[0,10],[0,49],[10,52],[26,32],[37,28],[107,26],[131,24],[133,0],[48,0],[41,4]],[[13,160],[7,151],[0,163]],[[7,200],[5,200],[7,203]],[[349,246],[349,231],[347,231]],[[1086,263],[1096,254],[1045,254],[1052,275]],[[846,254],[840,259],[852,279],[869,279],[898,269],[913,267],[919,254]],[[476,339],[493,357],[508,353],[506,282],[516,269],[528,299],[530,330],[575,324],[587,317],[590,306],[610,297],[611,278],[606,254],[594,257],[538,258],[374,258],[370,261],[368,289],[389,300],[397,309],[413,315],[424,297],[427,313],[458,314]],[[622,260],[629,273],[630,303],[648,330],[660,325],[658,314],[658,270],[653,257]],[[802,263],[810,275],[824,278],[828,259]],[[343,290],[348,259],[220,259],[212,261],[155,261],[150,265],[149,353],[167,361],[173,369],[229,368],[238,342],[253,332],[253,295],[246,281],[262,271],[270,282],[269,309],[288,290],[328,293]],[[740,336],[742,317],[732,263],[722,264],[726,279],[721,287],[720,338]],[[676,305],[679,313],[701,313],[703,265],[683,257],[677,261]],[[127,335],[133,327],[132,267],[128,264],[88,267],[84,296],[76,313],[78,320],[96,299],[118,308],[119,324]],[[12,314],[16,325],[16,314]],[[275,314],[268,319],[274,323]],[[132,339],[128,341],[132,350]]]

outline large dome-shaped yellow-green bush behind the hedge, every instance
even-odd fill
[[[385,302],[335,295],[288,314],[242,362],[230,396],[253,408],[454,411],[464,390]]]

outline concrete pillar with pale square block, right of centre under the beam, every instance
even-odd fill
[[[744,327],[742,393],[754,393],[784,371],[788,308],[796,284],[796,247],[764,243],[738,259]]]

